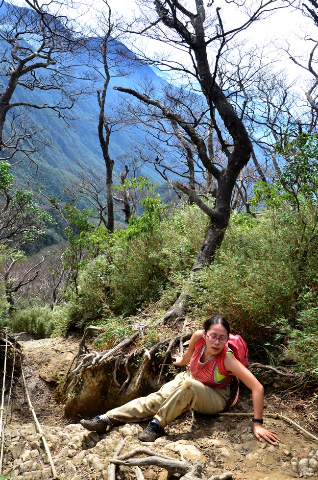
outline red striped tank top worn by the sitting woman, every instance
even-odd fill
[[[211,359],[204,363],[199,361],[203,353],[202,347],[204,345],[206,345],[205,338],[202,336],[202,338],[200,338],[195,344],[195,351],[190,360],[190,372],[193,377],[203,385],[212,386],[214,388],[224,388],[231,383],[232,376],[227,375],[224,377],[223,375],[220,375],[218,371],[218,355],[211,357]],[[229,350],[229,352],[231,352],[231,350]]]

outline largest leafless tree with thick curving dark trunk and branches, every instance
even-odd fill
[[[208,265],[215,256],[223,240],[228,225],[232,192],[240,171],[247,165],[251,153],[251,141],[244,121],[235,109],[235,103],[224,92],[217,81],[218,65],[227,45],[238,33],[245,30],[249,24],[260,20],[264,15],[282,6],[276,1],[254,3],[246,8],[246,21],[237,27],[226,29],[223,24],[220,7],[212,13],[213,4],[204,6],[202,0],[194,0],[191,4],[178,0],[155,0],[153,7],[150,2],[139,2],[142,18],[130,24],[130,32],[157,39],[169,44],[171,48],[188,54],[188,63],[174,60],[173,56],[157,58],[161,68],[171,68],[183,74],[183,80],[188,81],[188,88],[198,89],[204,96],[206,112],[211,127],[214,129],[220,143],[225,162],[220,165],[211,159],[206,145],[206,138],[196,123],[180,115],[173,105],[164,103],[155,94],[128,88],[115,87],[118,91],[129,94],[150,108],[161,112],[164,118],[174,122],[195,145],[196,154],[206,172],[216,180],[214,204],[209,204],[191,187],[175,182],[179,190],[189,196],[209,217],[210,224],[202,241],[193,266],[196,270]],[[152,3],[151,3],[152,4]],[[213,58],[213,55],[216,55]],[[196,82],[196,83],[195,83]],[[182,316],[184,304],[179,299],[171,309],[170,316]],[[168,317],[169,317],[168,315]]]

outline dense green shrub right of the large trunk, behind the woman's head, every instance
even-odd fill
[[[277,219],[276,219],[277,220]],[[215,261],[196,283],[184,284],[197,318],[218,312],[247,338],[264,337],[259,324],[291,316],[299,288],[299,259],[288,231],[264,212],[233,215]]]

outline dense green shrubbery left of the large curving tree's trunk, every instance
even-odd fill
[[[178,206],[169,213],[157,201],[146,206],[143,217],[116,232],[100,247],[103,253],[81,269],[78,295],[69,296],[69,328],[83,330],[105,317],[134,315],[165,292],[171,297],[176,278],[188,276],[206,216],[196,206]],[[98,243],[98,232],[93,234]],[[102,244],[102,230],[99,235]]]

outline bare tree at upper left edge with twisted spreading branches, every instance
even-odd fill
[[[46,144],[44,132],[25,121],[30,109],[48,109],[69,124],[74,101],[89,91],[88,84],[79,88],[75,81],[84,50],[72,23],[57,11],[48,13],[53,1],[43,7],[36,0],[25,4],[1,4],[0,154],[11,163]],[[43,91],[50,94],[50,104],[38,102],[37,92]]]

